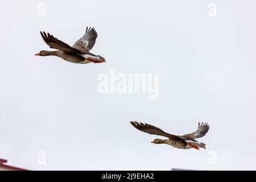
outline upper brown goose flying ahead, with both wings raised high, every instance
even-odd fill
[[[54,49],[59,49],[58,51],[40,51],[36,53],[36,56],[58,56],[61,59],[69,61],[71,63],[104,63],[104,57],[100,55],[94,55],[90,53],[90,49],[93,48],[96,38],[98,36],[94,28],[86,27],[84,36],[71,47],[68,44],[62,42],[61,40],[55,38],[51,34],[46,32],[41,32],[40,34],[44,42]]]

